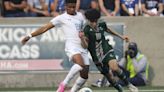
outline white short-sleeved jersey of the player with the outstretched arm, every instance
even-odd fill
[[[85,18],[82,13],[77,12],[76,15],[69,15],[67,12],[53,18],[50,21],[54,26],[60,25],[63,28],[66,45],[65,49],[77,49],[82,52],[86,50],[81,46],[81,40],[79,37],[79,31],[82,30],[82,27],[85,23]]]

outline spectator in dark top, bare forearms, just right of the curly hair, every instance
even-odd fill
[[[98,0],[100,10],[106,16],[118,16],[120,0]]]

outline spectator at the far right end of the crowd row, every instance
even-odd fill
[[[144,16],[162,16],[162,0],[141,0]]]

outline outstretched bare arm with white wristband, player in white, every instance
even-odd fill
[[[48,31],[49,29],[51,29],[51,28],[53,28],[53,27],[54,27],[54,25],[53,25],[51,22],[49,22],[49,23],[47,23],[46,25],[44,25],[44,26],[38,28],[36,31],[32,32],[31,34],[26,35],[26,36],[21,40],[21,43],[24,45],[24,44],[26,44],[26,42],[27,42],[28,40],[30,40],[30,38],[35,37],[35,36],[38,36],[38,35],[40,35],[40,34],[43,34],[43,33],[45,33],[46,31]]]

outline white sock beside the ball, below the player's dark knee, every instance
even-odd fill
[[[78,77],[78,79],[76,80],[75,84],[71,88],[71,92],[77,92],[84,85],[84,83],[86,81],[87,81],[87,79]]]

